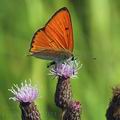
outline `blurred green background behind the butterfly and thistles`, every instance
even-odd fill
[[[82,120],[105,120],[111,88],[120,83],[119,0],[0,0],[0,120],[20,120],[8,89],[25,79],[39,87],[42,120],[58,120],[57,80],[48,75],[48,61],[27,54],[34,32],[64,6],[72,17],[74,54],[83,64],[71,80],[74,98],[82,104]]]

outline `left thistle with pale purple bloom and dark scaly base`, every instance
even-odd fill
[[[25,81],[25,83],[21,83],[21,87],[14,85],[9,91],[14,95],[9,99],[20,102],[22,120],[40,120],[40,113],[34,104],[34,100],[38,97],[36,87]]]

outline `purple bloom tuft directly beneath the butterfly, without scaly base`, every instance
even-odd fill
[[[51,66],[50,73],[67,79],[70,77],[76,77],[79,68],[81,68],[81,66],[78,66],[76,60],[68,59],[64,63],[57,63]]]

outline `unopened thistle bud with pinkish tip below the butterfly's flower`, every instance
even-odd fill
[[[81,105],[79,101],[71,101],[63,115],[63,120],[80,120]]]

